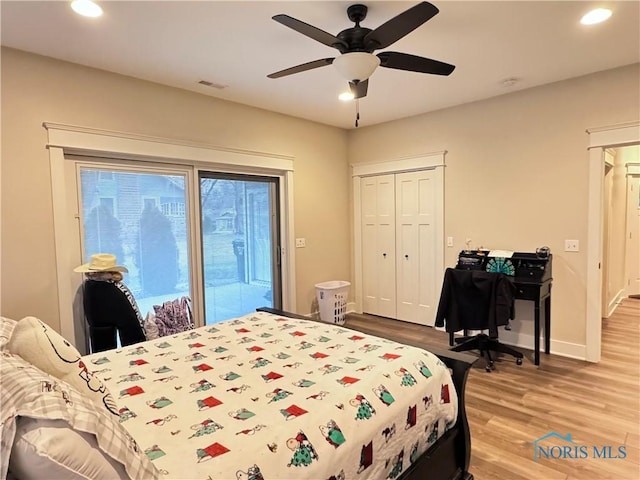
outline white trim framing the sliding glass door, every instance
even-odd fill
[[[66,192],[69,186],[64,174],[67,154],[153,161],[156,164],[164,162],[194,168],[217,167],[237,173],[260,172],[279,177],[282,200],[282,306],[285,310],[296,311],[295,257],[292,254],[294,250],[289,248],[295,244],[293,157],[50,122],[44,122],[43,126],[48,134],[47,148],[51,167],[60,333],[65,338],[76,343],[73,325],[75,289],[70,273],[73,260],[68,248],[69,232],[72,230],[66,215]]]

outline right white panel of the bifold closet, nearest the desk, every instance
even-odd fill
[[[434,171],[400,173],[395,177],[395,318],[433,325],[436,298]]]

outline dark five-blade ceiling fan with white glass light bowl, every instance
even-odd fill
[[[351,5],[347,8],[347,16],[349,20],[355,23],[355,26],[341,31],[336,36],[290,17],[289,15],[275,15],[273,19],[276,22],[324,45],[337,49],[341,55],[296,65],[295,67],[267,75],[267,77],[281,78],[294,73],[333,65],[349,82],[351,92],[354,98],[357,99],[367,95],[369,77],[378,66],[418,73],[450,75],[456,68],[454,65],[431,58],[418,57],[401,52],[380,52],[377,55],[373,54],[374,50],[387,48],[400,40],[433,18],[438,12],[439,10],[431,3],[420,2],[393,17],[391,20],[388,20],[386,23],[383,23],[375,30],[371,30],[370,28],[360,26],[360,22],[367,16],[366,5]]]

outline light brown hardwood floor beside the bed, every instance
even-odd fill
[[[449,345],[444,332],[369,315],[349,314],[345,326],[400,342],[421,339],[427,349]],[[522,352],[522,366],[504,356],[493,372],[485,372],[480,360],[469,374],[475,479],[640,480],[640,300],[625,299],[603,321],[598,364],[542,354],[536,367],[533,352]],[[533,442],[550,432],[570,433],[578,446],[572,451],[584,449],[588,458],[535,461]],[[549,451],[571,444],[549,439],[543,445]],[[624,446],[626,458],[594,458],[593,447],[607,445],[614,454]]]

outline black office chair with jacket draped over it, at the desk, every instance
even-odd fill
[[[522,353],[498,341],[498,327],[513,318],[515,287],[502,273],[483,270],[448,268],[445,271],[436,326],[445,327],[449,345],[454,345],[454,333],[464,330],[465,336],[455,338],[455,352],[480,350],[486,359],[485,369],[494,367],[491,352],[512,355],[522,365]],[[489,330],[489,334],[467,336],[469,330]]]

